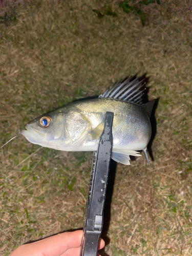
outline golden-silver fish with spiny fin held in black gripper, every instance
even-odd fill
[[[118,81],[98,98],[68,103],[26,124],[20,133],[34,144],[60,151],[97,151],[106,112],[113,112],[112,159],[129,165],[130,156],[141,156],[148,164],[147,144],[152,127],[154,101],[143,103],[140,77]]]

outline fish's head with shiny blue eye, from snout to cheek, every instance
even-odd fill
[[[33,144],[60,149],[70,143],[65,119],[61,111],[52,111],[27,123],[20,133]]]

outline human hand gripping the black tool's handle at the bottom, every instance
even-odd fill
[[[24,244],[9,256],[79,256],[82,230],[64,232],[40,241]],[[104,247],[100,239],[99,249]]]

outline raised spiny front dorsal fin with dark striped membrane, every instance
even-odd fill
[[[132,80],[133,76],[125,79],[123,82],[118,81],[110,89],[108,87],[102,95],[99,95],[99,98],[114,98],[124,101],[129,101],[132,103],[142,104],[142,95],[143,91],[140,91],[144,86],[144,79],[139,81],[140,77]]]

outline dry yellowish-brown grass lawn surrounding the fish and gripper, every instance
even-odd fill
[[[42,113],[98,95],[126,75],[146,73],[150,99],[160,97],[154,162],[147,166],[141,157],[131,166],[117,164],[105,253],[188,256],[190,5],[126,4],[140,8],[148,25],[116,1],[1,3],[1,143]],[[90,152],[41,148],[22,136],[2,148],[2,255],[27,241],[82,227],[91,162]]]

